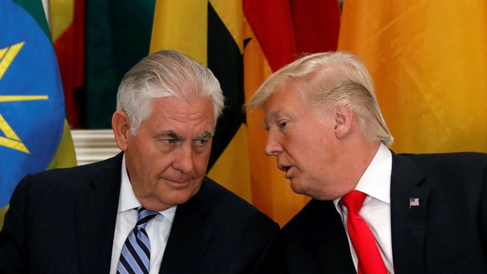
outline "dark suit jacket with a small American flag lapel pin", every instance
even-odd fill
[[[392,154],[395,274],[487,273],[487,155]],[[419,207],[409,208],[409,198]],[[287,273],[356,274],[332,201],[311,200],[282,229]]]

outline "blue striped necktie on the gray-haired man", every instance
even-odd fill
[[[150,211],[143,207],[138,207],[137,212],[137,224],[129,233],[129,237],[122,247],[117,274],[149,274],[151,244],[147,232],[145,232],[145,226],[159,212]]]

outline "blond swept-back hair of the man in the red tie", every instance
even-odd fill
[[[349,106],[367,140],[390,145],[394,138],[387,129],[369,72],[360,59],[347,52],[306,55],[273,73],[246,104],[255,110],[279,88],[291,82],[303,84],[303,96],[312,107]]]

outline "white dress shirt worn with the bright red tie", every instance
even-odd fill
[[[387,272],[394,274],[392,263],[392,240],[391,240],[391,170],[392,154],[384,144],[380,144],[374,159],[369,164],[364,174],[358,181],[355,190],[366,193],[362,209],[358,212],[362,219],[369,225],[372,235],[376,239],[380,255],[384,261]],[[350,241],[347,229],[347,208],[341,206],[338,201],[333,200],[336,210],[342,217],[342,222],[349,239],[350,252],[352,253],[353,264],[357,270],[358,258]]]

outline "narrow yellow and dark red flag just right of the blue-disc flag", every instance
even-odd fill
[[[59,64],[64,101],[71,128],[81,128],[84,84],[84,0],[50,0],[54,51]]]

